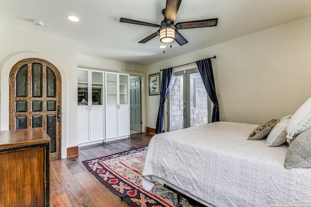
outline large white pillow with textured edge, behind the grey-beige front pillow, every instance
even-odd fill
[[[311,98],[294,113],[287,125],[287,142],[291,143],[295,136],[311,127]]]

